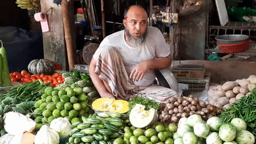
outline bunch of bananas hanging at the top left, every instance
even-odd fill
[[[40,0],[16,0],[18,7],[28,10],[37,10],[39,9]]]

